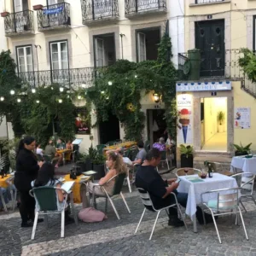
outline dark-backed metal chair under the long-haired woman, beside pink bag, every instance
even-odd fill
[[[125,197],[124,197],[124,195],[121,192],[121,189],[123,187],[123,183],[124,183],[125,177],[126,177],[126,173],[123,172],[123,173],[119,173],[119,174],[113,176],[112,178],[110,178],[108,180],[107,183],[109,183],[111,180],[115,179],[114,186],[113,186],[113,191],[112,191],[111,195],[109,195],[107,190],[104,188],[105,184],[103,184],[103,185],[95,184],[94,187],[93,187],[92,198],[91,198],[93,203],[91,203],[90,205],[93,204],[94,207],[96,207],[96,197],[105,197],[106,198],[105,212],[107,212],[108,200],[109,200],[110,203],[111,203],[111,206],[113,207],[113,211],[116,214],[116,217],[118,219],[120,219],[119,218],[119,213],[117,212],[116,208],[114,207],[114,204],[113,204],[113,201],[112,201],[111,198],[113,197],[113,195],[121,195],[121,197],[122,197],[122,199],[123,199],[123,201],[125,203],[125,207],[127,208],[128,212],[131,213],[130,208],[128,207],[128,205],[127,205],[127,203],[125,201]],[[106,195],[105,196],[104,195],[95,195],[95,188],[96,188],[96,186],[102,187],[102,189],[103,189],[103,191],[105,192]]]

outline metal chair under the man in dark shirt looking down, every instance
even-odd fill
[[[149,236],[149,240],[151,240],[151,238],[152,238],[152,236],[153,236],[153,233],[154,233],[155,225],[156,225],[157,220],[158,220],[158,218],[159,218],[160,212],[161,212],[162,210],[166,210],[166,213],[167,213],[167,215],[169,216],[167,210],[168,210],[169,208],[171,208],[171,207],[177,207],[177,211],[178,211],[178,213],[180,214],[181,218],[183,219],[183,223],[185,224],[185,228],[186,228],[186,230],[188,230],[187,224],[185,223],[185,220],[184,220],[184,218],[183,218],[183,214],[182,214],[181,209],[180,209],[180,207],[179,207],[179,204],[178,204],[178,202],[177,202],[177,197],[176,197],[176,195],[175,195],[174,193],[171,193],[171,194],[172,194],[172,195],[174,196],[174,198],[175,198],[175,202],[176,202],[175,204],[172,204],[171,206],[163,207],[163,208],[160,208],[160,209],[156,210],[156,209],[154,208],[153,202],[151,201],[150,195],[148,194],[148,191],[146,191],[145,189],[142,189],[142,188],[137,188],[137,190],[138,190],[138,192],[139,192],[139,195],[140,195],[140,197],[141,197],[141,200],[143,201],[143,205],[144,205],[145,208],[144,208],[144,210],[143,210],[143,215],[142,215],[142,217],[140,218],[139,223],[137,224],[137,229],[135,230],[135,233],[134,233],[134,234],[137,233],[137,230],[138,230],[138,228],[139,228],[139,226],[140,226],[140,224],[141,224],[141,222],[142,222],[142,220],[143,220],[143,216],[144,216],[144,214],[145,214],[145,212],[146,212],[146,209],[148,209],[148,211],[151,211],[151,212],[157,212],[156,218],[155,218],[155,220],[154,220],[153,229],[152,229],[151,234],[150,234],[150,236]]]

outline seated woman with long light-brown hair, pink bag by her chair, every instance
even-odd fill
[[[115,153],[115,152],[110,152],[108,154],[108,162],[107,162],[107,166],[109,168],[109,172],[106,174],[105,177],[102,177],[99,181],[99,185],[104,185],[104,189],[106,189],[106,191],[108,192],[108,194],[112,194],[113,191],[113,186],[114,186],[114,182],[115,179],[113,178],[109,183],[108,180],[111,179],[112,177],[114,177],[115,175],[119,174],[119,173],[127,173],[127,167],[124,164],[123,158],[121,155]],[[89,182],[88,183],[88,189],[90,194],[93,193],[93,187],[96,185],[96,183],[92,183]],[[100,186],[96,186],[94,191],[95,191],[95,195],[103,195],[105,196],[105,192],[104,189]]]

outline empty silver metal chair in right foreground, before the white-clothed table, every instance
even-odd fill
[[[241,215],[241,209],[239,207],[239,192],[241,188],[230,188],[230,189],[217,189],[217,190],[211,190],[207,191],[203,194],[201,194],[201,201],[203,202],[203,205],[207,207],[207,209],[212,214],[213,223],[217,232],[218,241],[221,243],[221,239],[218,233],[218,226],[216,224],[215,216],[220,215],[230,215],[230,214],[236,214],[236,224],[238,224],[238,214],[240,214],[241,223],[243,226],[243,230],[245,233],[245,236],[248,240],[247,236],[247,230]],[[217,199],[216,200],[210,200],[210,201],[204,201],[203,196],[209,195],[209,194],[216,194]],[[204,222],[205,221],[205,212],[203,211],[203,217]]]

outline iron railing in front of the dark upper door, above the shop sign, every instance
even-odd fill
[[[226,49],[223,53],[216,50],[201,51],[200,79],[245,79],[239,59],[243,56],[240,49]],[[196,60],[189,57],[188,53],[178,54],[179,80],[189,80],[194,72]],[[196,76],[196,75],[195,75]]]

